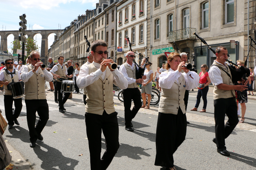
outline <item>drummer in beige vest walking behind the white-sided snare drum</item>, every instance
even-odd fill
[[[52,73],[53,76],[57,77],[57,82],[55,84],[55,91],[58,91],[58,101],[59,101],[59,111],[61,113],[64,113],[64,111],[66,110],[64,108],[64,103],[67,101],[70,93],[61,93],[61,80],[60,78],[72,78],[73,75],[68,75],[68,71],[67,71],[67,67],[63,64],[64,62],[64,57],[63,56],[59,56],[58,58],[58,64],[56,64],[55,66],[53,66],[52,70],[50,70],[50,72]]]

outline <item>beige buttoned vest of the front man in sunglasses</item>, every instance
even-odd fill
[[[94,64],[89,64],[89,72],[97,71]],[[104,80],[101,76],[93,84],[86,87],[87,98],[85,112],[102,115],[105,110],[107,114],[115,112],[113,100],[113,74],[106,68],[106,75]]]

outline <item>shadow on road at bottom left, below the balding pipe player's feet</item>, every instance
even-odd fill
[[[33,149],[38,158],[42,160],[42,169],[74,170],[75,166],[78,165],[79,161],[64,157],[59,150],[44,144],[44,142],[37,142],[37,145],[39,146]],[[47,151],[45,151],[45,149],[47,149]]]

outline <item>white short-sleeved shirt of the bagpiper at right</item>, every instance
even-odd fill
[[[216,60],[215,60],[215,62],[218,64],[221,64],[221,63],[217,62]],[[221,64],[221,65],[223,65],[227,68],[226,63],[227,62],[224,62],[224,65],[223,64]],[[221,70],[219,69],[219,67],[211,66],[208,74],[209,74],[209,78],[210,78],[212,84],[214,84],[215,86],[218,86],[219,84],[223,84],[223,79],[221,77]]]

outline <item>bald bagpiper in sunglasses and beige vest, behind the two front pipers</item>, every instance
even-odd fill
[[[133,63],[135,53],[132,51],[127,52],[126,58],[126,62],[120,66],[119,70],[121,73],[123,73],[124,77],[128,81],[128,88],[123,90],[125,130],[133,132],[132,119],[135,118],[136,114],[140,110],[140,107],[142,106],[140,90],[136,83],[142,84],[144,81],[143,79],[136,79],[135,67],[137,66],[135,66],[135,63]],[[134,106],[131,110],[132,100]]]

